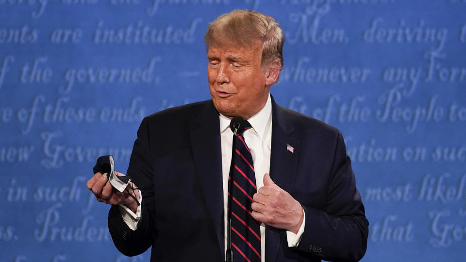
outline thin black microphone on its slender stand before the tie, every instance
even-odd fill
[[[234,158],[233,157],[234,157],[234,153],[235,153],[234,145],[236,143],[236,134],[243,132],[245,127],[246,127],[246,120],[244,120],[240,116],[233,117],[232,121],[230,122],[230,128],[233,131],[233,143],[232,143],[232,161],[230,162],[230,175],[229,175],[229,177],[232,178],[232,179],[228,180],[228,192],[232,191],[231,181],[233,180],[233,168],[234,168],[234,163],[233,163]],[[226,262],[233,262],[233,250],[232,250],[232,196],[231,195],[228,196],[227,207],[228,207],[228,213],[227,213],[227,250],[225,251],[225,261]]]

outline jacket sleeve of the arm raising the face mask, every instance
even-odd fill
[[[123,221],[117,206],[112,206],[108,215],[108,229],[116,248],[126,256],[139,255],[145,252],[155,241],[157,227],[155,225],[155,199],[153,173],[150,164],[149,125],[144,118],[137,139],[134,142],[127,175],[142,191],[141,220],[137,229],[132,230]]]

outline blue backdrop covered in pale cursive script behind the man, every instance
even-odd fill
[[[465,0],[0,0],[0,262],[126,258],[85,187],[125,172],[145,115],[208,99],[207,24],[286,34],[271,93],[339,128],[370,222],[365,262],[465,261]]]

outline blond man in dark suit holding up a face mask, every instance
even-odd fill
[[[224,260],[229,124],[240,116],[252,126],[244,141],[257,188],[244,209],[261,225],[260,247],[232,232],[250,248],[233,243],[234,261],[362,258],[368,223],[341,133],[269,95],[283,65],[283,41],[280,25],[257,12],[237,10],[209,24],[212,99],[142,121],[127,172],[140,192],[119,193],[101,173],[87,182],[99,201],[113,205],[109,230],[120,252],[133,256],[151,246],[150,261]],[[142,195],[141,206],[129,194]]]

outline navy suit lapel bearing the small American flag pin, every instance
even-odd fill
[[[300,140],[291,134],[294,126],[286,116],[286,109],[278,106],[272,98],[272,142],[270,149],[270,178],[283,190],[290,192],[294,184]],[[287,146],[290,146],[290,150]],[[276,261],[280,246],[280,231],[266,227],[266,261]],[[284,233],[284,231],[283,231]],[[285,236],[286,237],[286,236]],[[287,245],[286,242],[282,245]]]

